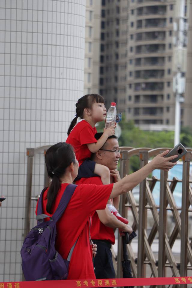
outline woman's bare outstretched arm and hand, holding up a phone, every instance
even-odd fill
[[[150,163],[142,167],[140,170],[130,175],[127,175],[120,181],[114,183],[109,199],[133,189],[140,182],[142,182],[150,173],[152,173],[154,169],[163,169],[165,171],[169,171],[171,168],[173,168],[173,166],[176,165],[177,162],[172,163],[170,162],[170,160],[175,159],[177,155],[164,158],[167,153],[168,150],[157,155]]]

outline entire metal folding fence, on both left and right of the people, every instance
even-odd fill
[[[26,215],[25,232],[26,235],[33,226],[35,219],[35,203],[38,195],[32,195],[33,163],[35,155],[44,153],[50,146],[42,146],[36,149],[27,149],[27,184],[26,184]],[[151,157],[158,155],[167,148],[138,148],[121,147],[120,175],[124,177],[130,173],[130,159],[133,156],[139,157],[140,167],[148,163]],[[132,191],[127,191],[121,196],[119,212],[123,217],[131,216],[133,218],[132,228],[137,231],[138,237],[137,251],[133,250],[133,243],[128,244],[128,254],[131,261],[133,277],[164,277],[167,269],[173,276],[189,276],[192,270],[192,249],[191,239],[188,237],[188,218],[192,211],[192,188],[189,178],[190,161],[192,161],[192,149],[182,158],[182,179],[167,179],[167,172],[161,170],[160,178],[155,176],[147,178],[140,183],[139,203],[134,197]],[[42,166],[41,166],[42,167]],[[42,173],[42,171],[41,171]],[[44,165],[44,183],[39,186],[46,186],[49,182],[46,168]],[[153,190],[156,183],[160,182],[159,205],[155,203]],[[173,196],[173,192],[178,183],[182,182],[182,205],[178,207]],[[41,191],[39,191],[40,193]],[[148,212],[150,211],[153,224],[147,229]],[[170,233],[167,233],[167,215],[172,213],[174,227]],[[129,219],[128,217],[128,219]],[[181,249],[178,251],[177,259],[172,251],[176,239],[180,239]],[[154,253],[152,245],[158,240],[158,253]],[[132,241],[133,242],[133,241]],[[122,277],[122,242],[118,236],[117,255],[112,249],[114,268],[117,277]],[[179,260],[178,260],[179,259]],[[150,271],[150,273],[149,273]],[[150,274],[150,276],[149,276]],[[168,275],[170,276],[170,275]],[[153,286],[155,287],[155,286]],[[173,287],[175,287],[173,285]],[[178,287],[178,286],[177,286]],[[181,287],[187,287],[182,284]],[[162,286],[163,288],[163,286]]]

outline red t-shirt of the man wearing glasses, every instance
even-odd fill
[[[96,184],[103,185],[100,177],[90,177],[90,178],[81,178],[76,181],[76,184]],[[104,187],[106,185],[103,185]],[[99,209],[98,209],[99,210]],[[115,235],[113,228],[105,226],[98,217],[97,212],[95,211],[92,215],[92,225],[91,225],[91,239],[94,240],[107,240],[111,244],[115,244]]]

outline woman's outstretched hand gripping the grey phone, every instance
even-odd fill
[[[153,165],[153,169],[162,169],[164,171],[169,171],[173,166],[177,164],[177,162],[172,163],[170,160],[173,160],[177,158],[178,155],[173,155],[170,157],[165,158],[164,156],[169,152],[169,150],[164,151],[163,153],[157,155],[153,160],[151,161],[151,164]]]

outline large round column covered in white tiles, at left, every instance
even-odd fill
[[[0,0],[0,282],[21,280],[26,148],[66,139],[84,43],[85,0]]]

